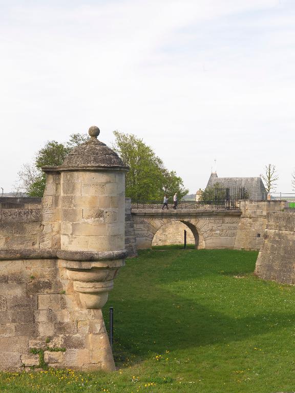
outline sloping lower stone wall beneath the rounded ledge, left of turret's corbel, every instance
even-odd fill
[[[82,309],[62,261],[0,260],[0,369],[104,369],[109,343],[101,310]],[[57,352],[56,352],[57,351]],[[108,367],[106,367],[108,368]]]

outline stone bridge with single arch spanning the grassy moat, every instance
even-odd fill
[[[171,224],[181,222],[191,229],[195,247],[234,248],[241,209],[137,209],[132,208],[136,246],[151,248],[157,231]]]

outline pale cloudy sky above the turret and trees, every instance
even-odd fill
[[[0,0],[0,187],[48,140],[152,146],[191,193],[295,169],[293,0]],[[295,192],[295,191],[293,191]]]

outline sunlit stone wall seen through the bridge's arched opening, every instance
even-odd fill
[[[195,244],[193,232],[180,221],[175,221],[162,226],[153,238],[153,246],[164,246],[169,244],[183,244],[184,230],[186,230],[186,243]]]

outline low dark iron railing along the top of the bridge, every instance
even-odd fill
[[[168,208],[173,209],[174,204],[169,203]],[[132,209],[162,209],[163,203],[159,201],[146,201],[146,202],[132,202]],[[176,209],[221,209],[221,210],[233,210],[240,209],[240,201],[231,199],[223,201],[180,201]],[[166,210],[166,207],[164,207]]]

